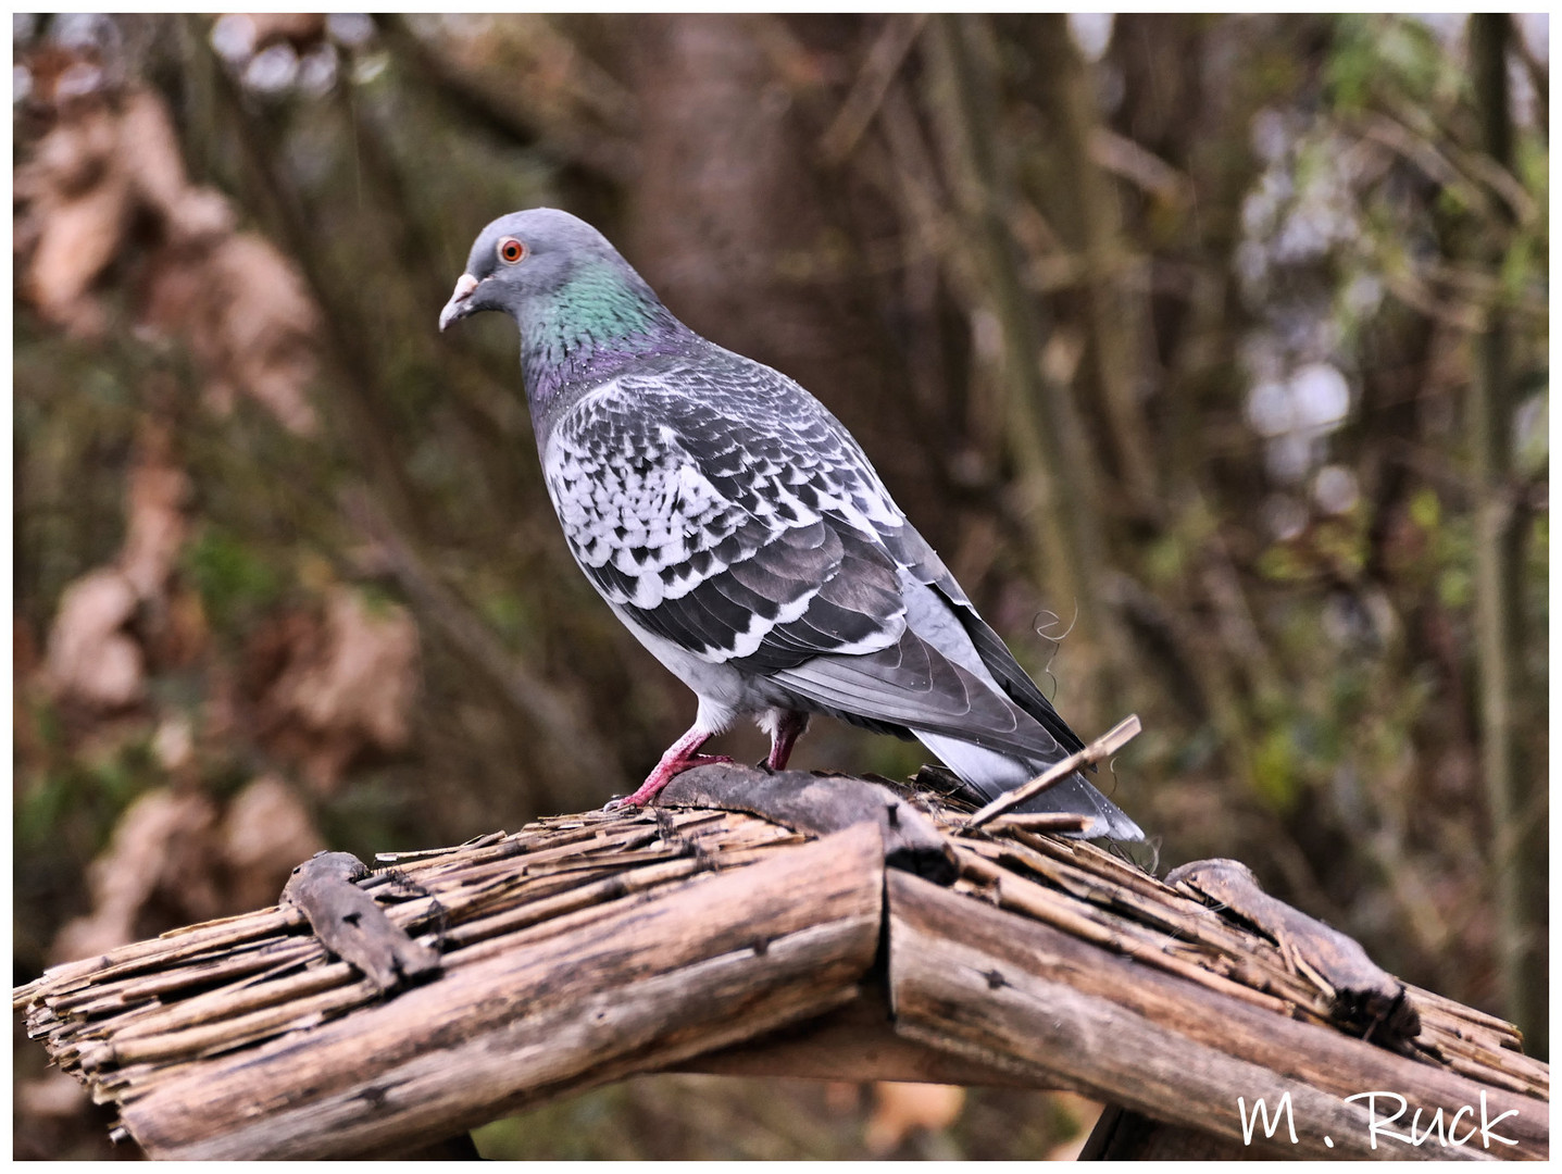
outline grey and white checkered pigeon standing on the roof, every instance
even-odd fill
[[[698,699],[622,804],[729,762],[737,718],[786,768],[812,715],[917,738],[972,798],[1081,748],[861,445],[793,379],[694,333],[595,228],[534,208],[494,220],[439,315],[509,314],[548,496],[619,620]],[[1078,773],[1020,810],[1140,840]]]

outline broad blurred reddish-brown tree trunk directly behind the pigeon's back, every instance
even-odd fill
[[[837,103],[822,91],[815,42],[850,45],[864,19],[633,20],[645,165],[626,192],[629,259],[694,329],[792,376],[870,439],[901,507],[929,542],[948,542],[948,501],[926,476],[928,443],[864,278],[865,231],[842,176],[820,164]],[[890,208],[876,219],[881,231],[897,220]]]

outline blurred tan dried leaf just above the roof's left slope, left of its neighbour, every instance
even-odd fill
[[[217,809],[205,795],[162,788],[136,799],[87,868],[92,912],[59,930],[50,957],[91,957],[217,916],[216,824]]]

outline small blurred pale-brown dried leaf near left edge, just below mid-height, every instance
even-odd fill
[[[62,701],[103,710],[141,701],[141,646],[122,631],[134,614],[136,589],[112,567],[89,571],[66,587],[44,657],[48,690]]]

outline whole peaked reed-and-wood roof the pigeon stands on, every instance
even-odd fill
[[[339,877],[406,935],[380,962],[311,930],[362,937],[361,905],[291,885],[12,1001],[159,1158],[405,1155],[664,1069],[1072,1088],[1126,1110],[1100,1143],[1120,1155],[1161,1122],[1223,1155],[1546,1157],[1550,1068],[1512,1026],[1384,974],[1239,865],[1168,884],[886,784],[703,767],[659,807]],[[1371,1091],[1421,1110],[1418,1144]],[[1295,1141],[1253,1127],[1287,1096]]]

